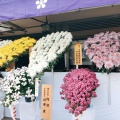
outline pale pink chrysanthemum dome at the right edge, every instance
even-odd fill
[[[84,49],[99,69],[111,70],[120,66],[120,33],[96,34],[94,38],[88,38]]]

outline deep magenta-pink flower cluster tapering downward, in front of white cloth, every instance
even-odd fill
[[[75,69],[66,74],[61,85],[62,99],[67,101],[65,109],[78,116],[85,111],[91,102],[91,97],[96,97],[96,88],[99,86],[94,72],[86,68]]]

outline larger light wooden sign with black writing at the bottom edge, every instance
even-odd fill
[[[41,119],[51,120],[52,86],[42,85]]]

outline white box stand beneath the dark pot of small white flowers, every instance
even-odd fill
[[[23,97],[19,102],[20,120],[41,120],[39,101],[25,102]]]

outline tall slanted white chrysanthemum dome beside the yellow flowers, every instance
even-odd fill
[[[37,73],[49,67],[49,64],[56,60],[71,42],[72,34],[67,31],[52,33],[39,39],[30,55],[28,66],[30,76],[35,77]]]

